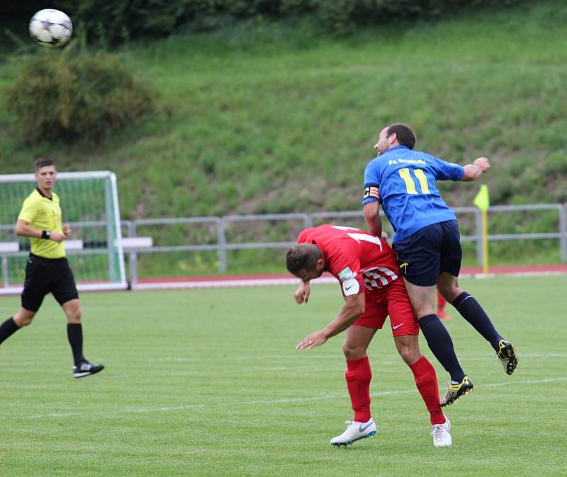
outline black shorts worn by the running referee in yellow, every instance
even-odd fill
[[[46,294],[62,305],[79,298],[77,285],[67,258],[43,258],[30,253],[23,283],[22,308],[38,311]]]

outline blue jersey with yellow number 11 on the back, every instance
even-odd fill
[[[420,229],[456,220],[435,187],[436,180],[461,180],[465,170],[421,151],[395,146],[369,162],[364,171],[364,200],[378,200],[393,226],[393,242]]]

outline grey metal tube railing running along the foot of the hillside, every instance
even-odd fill
[[[463,243],[473,242],[476,246],[476,261],[479,266],[483,265],[483,241],[482,241],[482,224],[481,212],[476,207],[456,207],[455,212],[459,217],[459,222],[468,223],[467,229],[471,229],[472,233],[461,235]],[[567,204],[532,204],[532,205],[497,205],[489,207],[488,214],[490,216],[497,214],[509,214],[511,212],[543,212],[555,211],[557,213],[557,229],[554,231],[537,231],[520,234],[489,234],[488,241],[518,241],[518,240],[543,240],[556,239],[558,241],[559,253],[561,260],[567,261]],[[468,216],[468,217],[467,217]],[[275,240],[275,241],[228,241],[228,227],[237,223],[267,223],[274,222],[296,222],[299,229],[310,227],[323,222],[334,222],[357,219],[364,224],[364,216],[361,209],[354,211],[337,211],[337,212],[314,212],[309,214],[249,214],[249,215],[227,215],[223,217],[182,217],[182,218],[162,218],[162,219],[141,219],[121,222],[123,236],[152,236],[152,228],[155,233],[156,227],[187,225],[187,226],[207,226],[209,234],[207,240],[201,243],[179,243],[177,245],[157,245],[142,248],[125,248],[130,265],[130,280],[135,284],[137,282],[137,260],[139,254],[147,253],[172,253],[172,252],[203,252],[215,251],[218,255],[218,271],[226,272],[227,270],[227,251],[245,250],[245,249],[269,249],[269,248],[288,248],[293,246],[294,241]],[[492,220],[492,219],[490,219]],[[73,228],[100,226],[98,222],[77,222],[71,224]],[[13,229],[13,225],[0,225],[1,230]],[[149,231],[149,233],[147,233]],[[287,234],[289,235],[289,234]],[[212,237],[212,238],[211,238]],[[155,236],[154,236],[155,238]],[[288,237],[286,237],[288,238]],[[155,240],[156,242],[156,240]],[[159,243],[159,241],[157,241]],[[213,242],[213,243],[203,243]],[[88,249],[82,251],[72,251],[72,253],[92,253]],[[9,256],[26,255],[25,251],[2,251],[2,275],[4,284],[7,283],[9,276],[8,260]]]

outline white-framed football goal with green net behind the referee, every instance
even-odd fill
[[[0,175],[0,294],[21,292],[30,239],[16,236],[23,201],[33,192],[34,174]],[[80,291],[126,289],[116,175],[111,171],[61,172],[53,191],[60,197],[64,241]]]

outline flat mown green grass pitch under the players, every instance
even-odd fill
[[[462,280],[512,340],[508,377],[461,318],[447,322],[475,391],[451,406],[453,446],[436,449],[391,333],[369,350],[378,434],[337,449],[352,418],[342,337],[295,345],[341,304],[336,285],[83,294],[85,354],[75,380],[64,318],[48,297],[0,347],[1,476],[567,475],[567,276]],[[8,318],[18,297],[4,297]],[[449,307],[450,308],[450,307]],[[449,311],[453,311],[450,309]],[[447,374],[425,341],[439,384]]]

